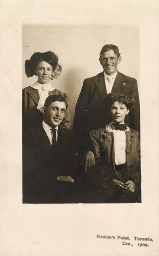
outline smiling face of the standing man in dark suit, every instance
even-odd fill
[[[121,62],[121,57],[117,57],[113,50],[109,50],[102,54],[99,61],[107,75],[113,75],[117,71],[118,64]]]

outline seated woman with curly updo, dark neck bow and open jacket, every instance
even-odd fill
[[[139,132],[124,124],[134,105],[131,96],[109,93],[105,99],[111,123],[90,133],[95,167],[87,173],[92,202],[141,202]]]

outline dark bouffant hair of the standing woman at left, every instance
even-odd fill
[[[32,77],[35,74],[35,68],[37,64],[41,61],[45,61],[49,63],[52,67],[53,70],[56,68],[58,64],[58,56],[53,53],[52,51],[48,52],[35,52],[30,60],[25,61],[25,74],[27,77]],[[53,79],[53,78],[51,78]]]

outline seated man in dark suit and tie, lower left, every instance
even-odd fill
[[[59,126],[67,107],[61,95],[49,96],[43,122],[23,132],[23,203],[76,202],[77,140]]]

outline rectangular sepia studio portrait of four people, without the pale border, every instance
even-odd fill
[[[138,26],[23,24],[23,203],[141,203],[139,49]]]

